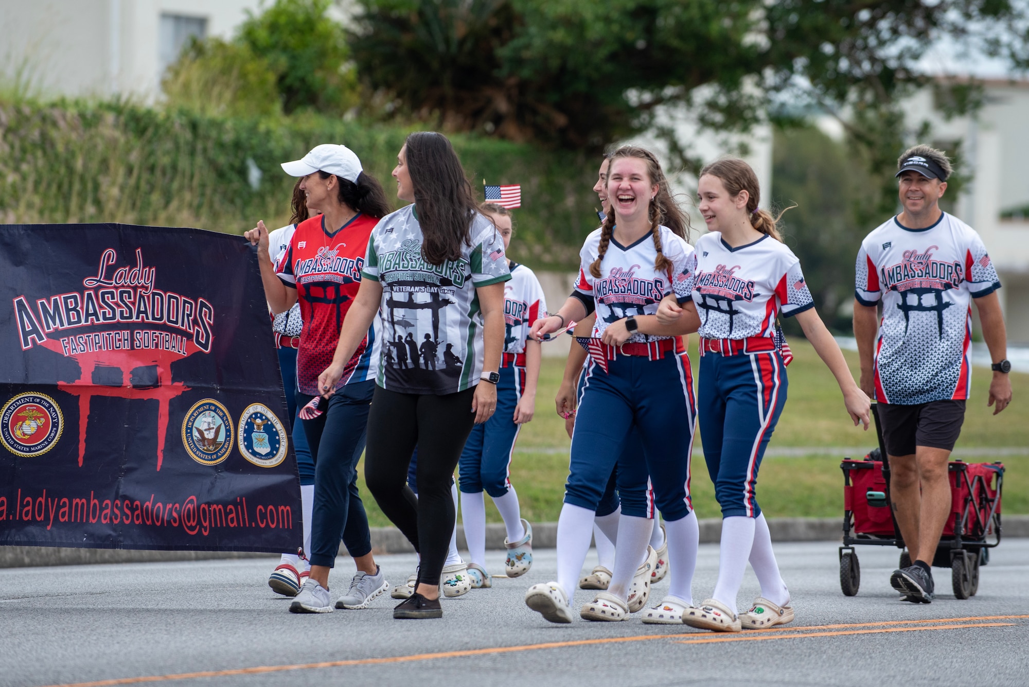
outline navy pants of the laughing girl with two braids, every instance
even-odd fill
[[[657,504],[666,520],[688,515],[696,407],[685,353],[669,351],[657,360],[619,355],[606,373],[590,360],[565,503],[597,510],[617,465],[623,514],[653,517]],[[638,439],[629,443],[634,426]]]

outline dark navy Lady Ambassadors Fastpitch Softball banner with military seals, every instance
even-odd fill
[[[300,487],[256,252],[0,225],[0,544],[295,551]]]

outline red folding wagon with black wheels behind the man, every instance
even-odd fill
[[[890,507],[890,468],[882,459],[882,431],[872,406],[879,448],[863,460],[844,459],[843,546],[840,547],[840,586],[848,596],[857,593],[861,569],[857,545],[896,546],[900,568],[911,565],[903,538]],[[951,569],[951,583],[958,599],[979,589],[979,569],[990,561],[989,551],[1000,543],[1000,496],[1004,481],[1002,463],[951,461],[951,513],[936,547],[932,566]]]

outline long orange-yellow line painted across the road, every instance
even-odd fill
[[[284,665],[256,665],[253,667],[227,668],[223,671],[200,671],[196,673],[175,673],[171,675],[151,675],[136,678],[114,678],[111,680],[96,680],[93,682],[76,682],[61,685],[50,685],[49,687],[112,687],[113,685],[137,685],[148,682],[171,682],[174,680],[193,680],[197,678],[222,678],[237,675],[261,675],[265,673],[282,673],[285,671],[307,671],[319,667],[345,667],[349,665],[380,665],[385,663],[406,663],[413,661],[435,660],[439,658],[461,658],[466,656],[484,656],[490,654],[504,654],[521,651],[538,651],[541,649],[562,649],[567,647],[595,646],[603,644],[617,644],[624,642],[646,642],[651,640],[682,640],[682,644],[707,644],[711,642],[740,641],[740,640],[774,640],[774,639],[801,639],[804,637],[833,637],[839,635],[861,635],[872,632],[906,631],[912,629],[956,629],[958,627],[998,627],[1008,626],[1015,623],[977,623],[970,625],[929,625],[919,627],[896,627],[884,629],[863,629],[841,632],[811,632],[809,635],[782,635],[785,631],[805,631],[812,629],[836,629],[841,627],[868,627],[895,624],[915,623],[947,623],[947,622],[967,622],[977,620],[1014,620],[1029,618],[1029,615],[992,615],[974,616],[966,618],[926,618],[922,620],[886,620],[882,622],[864,622],[852,624],[836,625],[807,625],[795,627],[770,627],[768,629],[747,630],[742,635],[711,635],[707,632],[680,632],[676,635],[639,635],[634,637],[611,637],[593,640],[572,640],[567,642],[546,642],[542,644],[525,644],[513,647],[490,647],[484,649],[465,649],[462,651],[441,651],[436,653],[413,654],[409,656],[386,656],[383,658],[354,658],[350,660],[320,661],[317,663],[292,663]],[[765,632],[777,632],[769,636]],[[757,635],[757,632],[761,632]]]

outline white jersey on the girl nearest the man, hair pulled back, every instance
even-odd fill
[[[766,234],[733,248],[720,231],[697,240],[694,303],[701,338],[774,336],[779,313],[792,317],[815,305],[785,244]]]

